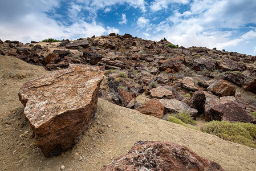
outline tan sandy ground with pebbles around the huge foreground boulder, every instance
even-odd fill
[[[22,84],[46,74],[42,67],[0,55],[0,169],[101,170],[139,140],[185,145],[225,170],[256,170],[256,149],[219,139],[168,121],[143,115],[99,99],[96,120],[74,148],[44,157],[34,145],[29,123],[18,100]]]

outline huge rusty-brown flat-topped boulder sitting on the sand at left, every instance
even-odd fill
[[[44,156],[58,155],[74,146],[95,115],[97,93],[104,71],[72,64],[27,82],[19,100]]]

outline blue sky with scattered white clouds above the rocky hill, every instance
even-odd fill
[[[73,40],[111,32],[255,55],[256,1],[0,1],[2,40]]]

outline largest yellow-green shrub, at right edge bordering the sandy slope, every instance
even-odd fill
[[[224,140],[256,148],[256,125],[251,123],[210,121],[201,127],[201,131],[216,135]]]

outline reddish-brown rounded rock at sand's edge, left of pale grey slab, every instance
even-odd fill
[[[155,116],[160,119],[164,116],[164,105],[162,105],[158,99],[150,99],[145,101],[136,110],[146,115]]]

